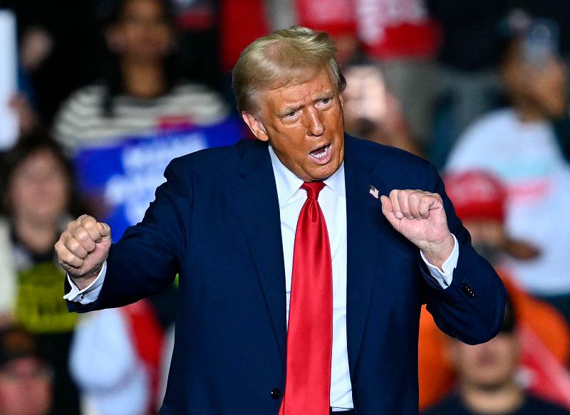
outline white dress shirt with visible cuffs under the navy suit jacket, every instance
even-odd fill
[[[279,214],[281,217],[281,239],[285,264],[286,315],[289,321],[289,298],[291,296],[291,273],[293,270],[293,248],[295,231],[301,208],[306,200],[306,191],[301,189],[303,180],[281,163],[269,147],[271,165],[275,175]],[[318,195],[328,229],[333,265],[333,353],[331,362],[331,407],[333,411],[353,409],[351,377],[348,372],[348,349],[346,337],[346,191],[344,164],[328,179]],[[373,197],[371,195],[371,197]],[[380,209],[380,201],[378,201]],[[453,236],[455,239],[455,236]],[[457,266],[459,248],[457,240],[450,258],[443,263],[442,270],[430,264],[421,253],[430,274],[442,286],[447,288],[452,280],[452,273]],[[87,288],[79,290],[68,277],[71,291],[63,298],[88,304],[95,301],[105,279],[106,263],[98,277]]]

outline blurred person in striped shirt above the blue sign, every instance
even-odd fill
[[[73,93],[54,135],[70,152],[147,130],[209,125],[227,115],[205,85],[184,82],[165,0],[117,0],[108,10],[106,77]]]

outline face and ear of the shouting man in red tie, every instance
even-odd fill
[[[259,140],[305,182],[327,179],[344,159],[341,98],[323,68],[303,83],[259,93],[259,112],[243,113]]]

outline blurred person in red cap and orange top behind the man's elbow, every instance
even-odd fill
[[[508,256],[529,259],[537,255],[524,241],[511,238],[504,228],[507,189],[497,177],[480,170],[447,174],[444,179],[447,194],[470,231],[473,246],[497,269],[509,292],[519,321],[521,364],[529,374],[525,387],[545,398],[570,404],[570,377],[565,369],[570,357],[569,325],[560,312],[526,293],[501,267]],[[455,382],[454,365],[445,354],[445,346],[445,335],[423,308],[418,355],[420,409],[440,401]]]

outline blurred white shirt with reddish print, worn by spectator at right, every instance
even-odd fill
[[[570,293],[570,166],[549,122],[522,122],[512,109],[475,122],[452,150],[447,170],[484,169],[508,189],[505,226],[509,236],[541,251],[505,268],[539,295]]]

